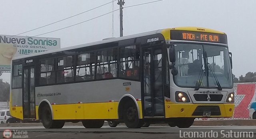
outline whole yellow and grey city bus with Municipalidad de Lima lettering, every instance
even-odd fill
[[[232,53],[225,33],[175,27],[12,60],[10,113],[45,128],[104,121],[129,128],[232,117]]]

